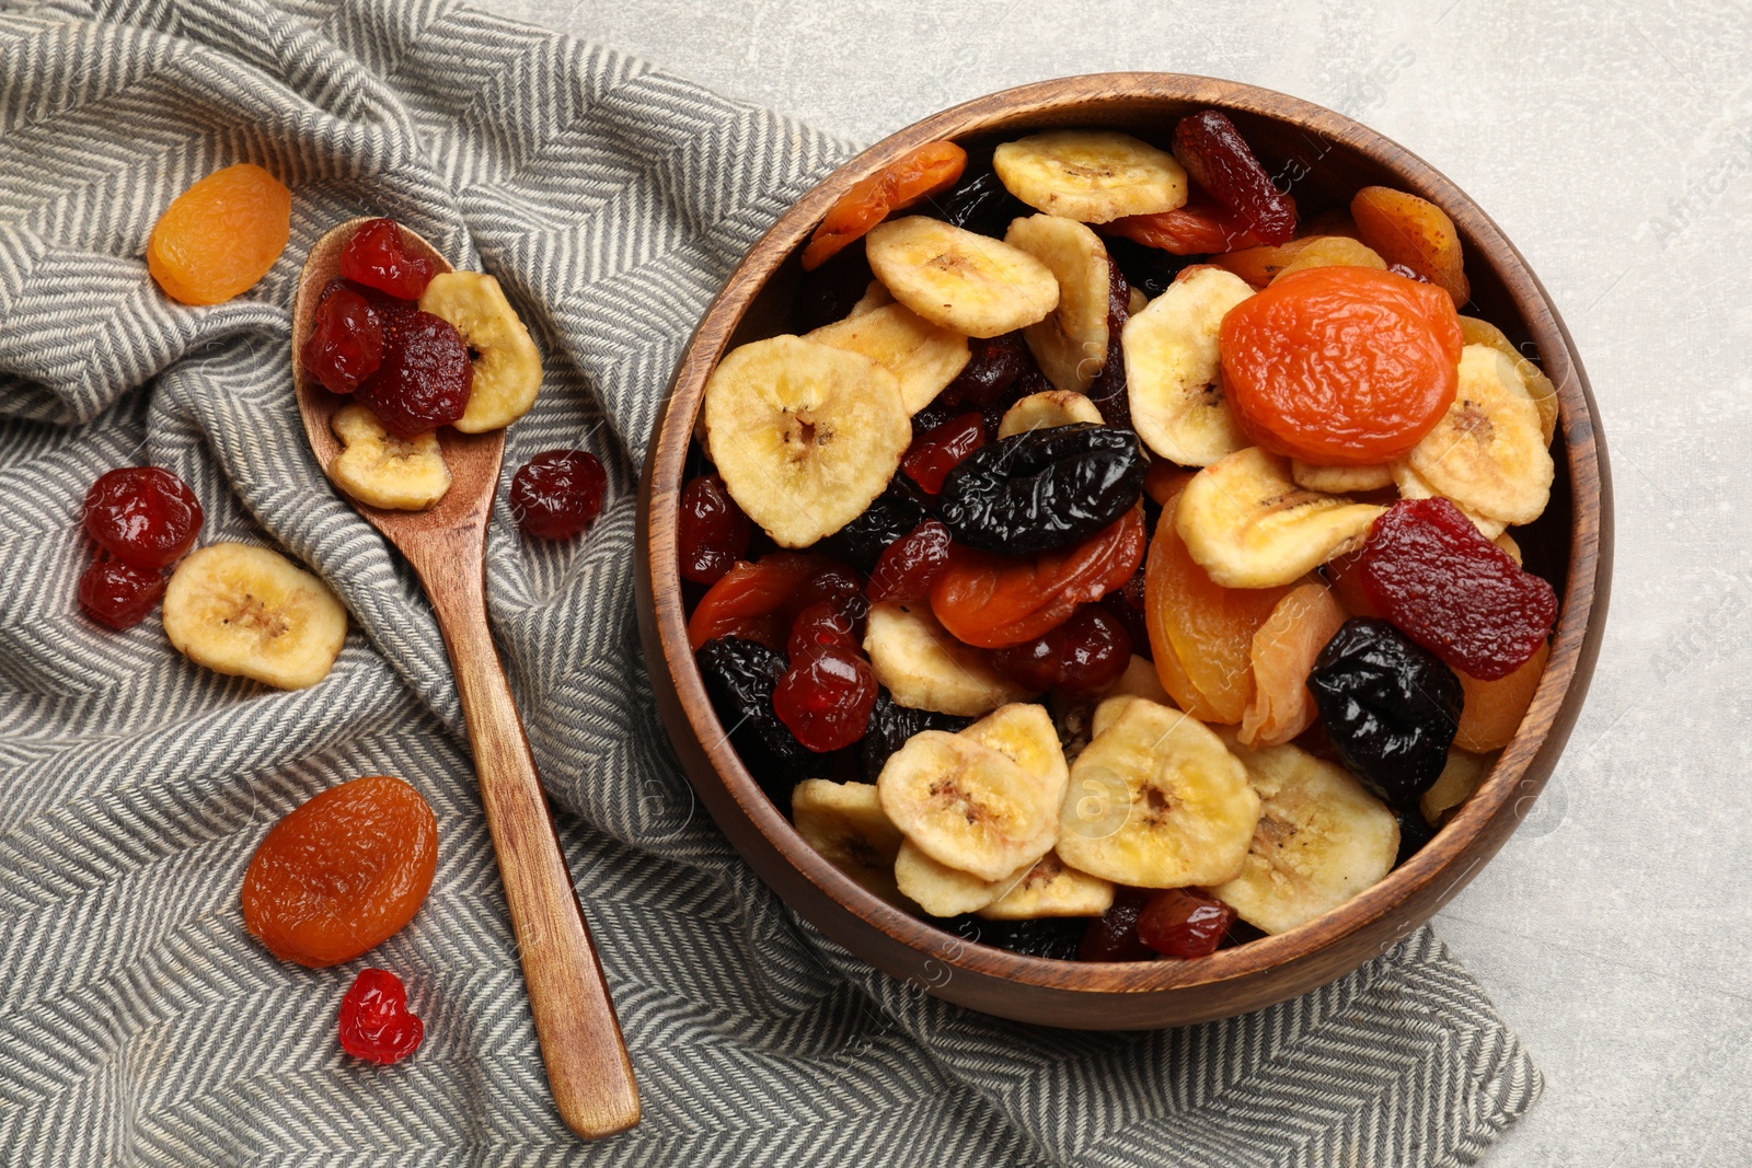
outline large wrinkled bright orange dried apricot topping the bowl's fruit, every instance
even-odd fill
[[[1223,317],[1230,408],[1274,454],[1370,466],[1410,452],[1459,383],[1440,289],[1370,268],[1291,271]]]

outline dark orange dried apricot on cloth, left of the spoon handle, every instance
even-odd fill
[[[294,807],[244,874],[244,925],[282,961],[350,961],[413,919],[438,865],[433,809],[371,774]]]

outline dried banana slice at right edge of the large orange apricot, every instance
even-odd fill
[[[1489,345],[1461,350],[1454,405],[1405,462],[1465,511],[1503,524],[1537,520],[1556,471],[1515,362]]]

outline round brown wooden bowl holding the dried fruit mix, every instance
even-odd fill
[[[676,571],[676,501],[706,376],[732,345],[801,331],[790,319],[797,254],[853,182],[925,142],[993,140],[1049,126],[1120,128],[1167,147],[1177,117],[1226,112],[1303,214],[1347,205],[1361,186],[1421,194],[1459,228],[1480,315],[1558,385],[1558,480],[1545,517],[1517,532],[1561,611],[1545,676],[1521,730],[1437,839],[1368,891],[1302,928],[1197,961],[1077,963],[965,942],[895,909],[822,860],[760,793],[724,737],[687,643]],[[1528,343],[1531,341],[1531,347]],[[1521,252],[1421,159],[1379,133],[1296,98],[1209,77],[1102,74],[1048,81],[957,105],[864,151],[785,212],[753,245],[706,317],[652,433],[639,497],[638,608],[652,686],[699,800],[767,884],[823,933],[894,977],[986,1014],[1084,1030],[1142,1030],[1244,1014],[1321,986],[1430,919],[1528,814],[1582,707],[1600,650],[1612,569],[1607,450],[1570,333]]]

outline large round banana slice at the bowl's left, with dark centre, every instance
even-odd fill
[[[783,548],[862,515],[913,441],[894,373],[801,336],[732,348],[706,382],[703,417],[731,497]]]

